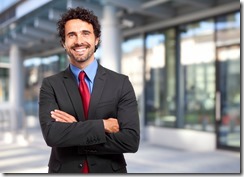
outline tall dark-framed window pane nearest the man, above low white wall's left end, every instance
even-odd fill
[[[147,125],[175,126],[174,34],[169,30],[146,36]]]

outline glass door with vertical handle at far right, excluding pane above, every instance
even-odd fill
[[[240,45],[217,48],[217,147],[240,149]]]

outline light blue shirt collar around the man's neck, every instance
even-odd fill
[[[91,64],[89,64],[83,71],[85,71],[88,79],[90,82],[94,82],[94,78],[96,76],[97,73],[97,67],[98,67],[98,63],[97,60],[95,59]],[[70,64],[70,69],[72,71],[72,73],[74,74],[76,81],[79,83],[79,74],[82,71],[80,68]]]

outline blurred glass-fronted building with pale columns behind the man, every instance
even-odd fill
[[[240,151],[237,0],[1,0],[1,141],[28,143],[40,130],[42,79],[68,66],[56,22],[77,6],[101,22],[96,58],[134,86],[142,141]]]

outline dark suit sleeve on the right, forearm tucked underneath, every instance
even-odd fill
[[[84,147],[88,154],[134,153],[140,141],[139,115],[134,89],[125,77],[117,105],[118,133],[106,134],[106,142]]]

